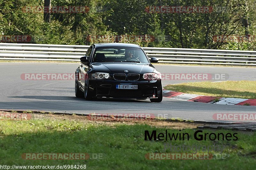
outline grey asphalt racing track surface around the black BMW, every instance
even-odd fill
[[[78,63],[0,63],[0,110],[42,110],[64,113],[151,113],[158,117],[215,121],[214,113],[256,113],[255,106],[217,105],[164,98],[96,100],[76,98],[73,80],[22,80],[22,73],[74,73]],[[256,68],[155,65],[161,73],[229,74],[228,80],[256,80]],[[191,81],[164,80],[163,85]]]

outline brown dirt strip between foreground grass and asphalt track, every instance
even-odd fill
[[[12,119],[11,119],[12,118]],[[161,120],[151,118],[118,118],[118,117],[94,117],[88,115],[61,114],[61,113],[41,113],[31,111],[0,111],[0,120],[29,120],[29,119],[52,119],[52,120],[70,120],[83,122],[85,124],[99,124],[115,126],[118,124],[148,124],[153,127],[171,128],[171,129],[193,129],[198,126],[216,125],[216,123],[200,123],[180,120]]]

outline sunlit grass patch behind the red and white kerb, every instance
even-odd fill
[[[204,96],[256,98],[256,81],[203,81],[168,85],[164,89]]]

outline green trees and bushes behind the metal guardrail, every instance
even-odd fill
[[[44,22],[43,12],[22,10],[43,4],[0,0],[0,35],[29,35],[32,39],[28,43],[44,44],[130,42],[154,47],[255,50],[253,0],[52,0],[51,6],[87,6],[89,11],[51,13],[50,23]],[[149,11],[154,6],[209,7],[209,12]],[[227,38],[246,35],[250,40]]]

